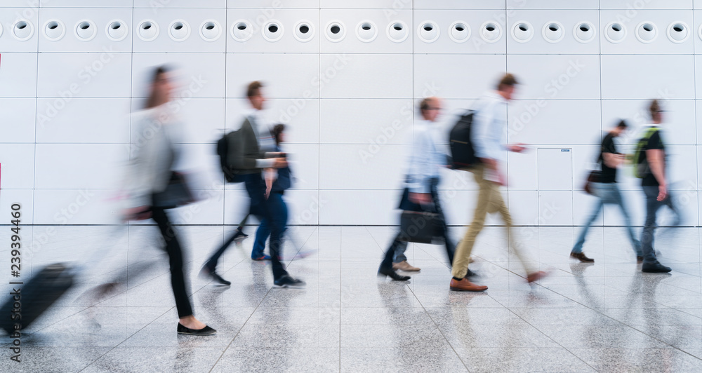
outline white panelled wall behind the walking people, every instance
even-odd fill
[[[29,4],[29,7],[27,7]],[[597,155],[602,130],[620,118],[632,124],[618,139],[631,151],[647,123],[651,98],[667,100],[665,140],[670,144],[670,178],[684,210],[683,224],[698,225],[702,211],[702,2],[695,0],[8,0],[0,5],[0,208],[20,202],[25,223],[110,224],[119,203],[132,135],[129,113],[143,105],[151,69],[178,68],[176,104],[187,123],[182,165],[193,174],[204,201],[175,212],[180,224],[237,224],[246,199],[241,185],[223,185],[214,142],[238,128],[247,109],[246,83],[265,83],[265,116],[288,124],[286,151],[296,183],[286,194],[293,224],[397,224],[397,203],[411,140],[414,105],[421,97],[444,97],[439,124],[444,137],[455,115],[492,88],[505,71],[522,86],[508,111],[510,142],[529,144],[508,156],[508,187],[503,190],[519,225],[578,225],[590,213],[592,197],[583,179]],[[695,17],[698,15],[698,17]],[[77,38],[81,21],[95,36]],[[232,27],[247,20],[247,41]],[[295,37],[308,22],[309,41]],[[15,34],[31,30],[26,40]],[[59,40],[45,36],[60,21]],[[122,22],[124,39],[107,37]],[[158,28],[152,41],[140,25]],[[183,41],[169,34],[174,21],[190,30]],[[278,22],[278,41],[264,26]],[[345,37],[327,38],[330,22]],[[205,22],[214,40],[201,37]],[[369,22],[373,41],[358,39]],[[432,22],[439,36],[418,36]],[[451,26],[470,29],[462,43]],[[501,30],[494,43],[482,39],[486,22]],[[512,36],[515,25],[530,25],[531,39]],[[543,29],[556,22],[562,40],[549,43]],[[594,37],[576,39],[583,22]],[[607,39],[618,22],[621,42]],[[650,43],[637,39],[637,27],[656,29]],[[389,28],[404,24],[406,39],[390,39]],[[670,25],[684,24],[680,43]],[[60,29],[60,28],[59,28]],[[445,147],[446,140],[439,139]],[[466,224],[475,205],[476,184],[465,172],[442,170],[439,184],[449,224]],[[620,172],[621,188],[633,222],[642,224],[639,180],[630,168]],[[85,203],[84,203],[85,202]],[[496,217],[488,224],[499,224]],[[595,224],[620,225],[621,215],[606,208]]]

